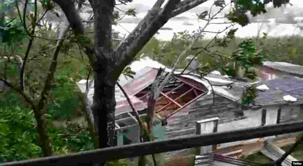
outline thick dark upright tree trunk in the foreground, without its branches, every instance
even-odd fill
[[[115,146],[115,72],[117,59],[112,47],[114,0],[93,1],[95,15],[95,84],[93,114],[98,129],[99,148]]]

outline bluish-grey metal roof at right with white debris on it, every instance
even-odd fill
[[[284,104],[303,104],[303,79],[293,76],[283,76],[274,80],[268,80],[258,85],[265,84],[269,90],[258,91],[255,105],[284,105]],[[291,95],[297,98],[295,102],[288,102],[283,99],[283,96]]]

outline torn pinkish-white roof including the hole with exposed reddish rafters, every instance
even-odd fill
[[[135,106],[136,110],[143,110],[147,108],[147,96],[149,92],[149,87],[155,80],[155,77],[158,72],[158,68],[165,68],[165,72],[170,72],[171,69],[168,69],[161,63],[158,63],[154,60],[151,60],[149,57],[141,58],[139,61],[134,61],[129,65],[133,71],[136,72],[134,79],[128,78],[122,74],[119,77],[119,83],[129,95],[132,103]],[[170,82],[162,90],[160,99],[157,100],[156,112],[165,112],[167,110],[169,114],[178,112],[184,107],[188,106],[190,103],[193,103],[196,99],[199,99],[203,95],[211,94],[213,91],[215,94],[223,96],[232,101],[237,101],[238,97],[229,93],[227,90],[221,86],[212,86],[209,84],[228,84],[232,83],[231,80],[223,76],[218,75],[209,75],[205,78],[209,80],[203,80],[198,78],[199,75],[178,75],[180,71],[176,71]],[[79,81],[78,86],[84,92],[85,82]],[[89,89],[88,98],[90,104],[92,104],[92,96],[94,93],[94,85]],[[131,112],[131,108],[123,95],[122,91],[116,86],[115,91],[116,97],[116,115]],[[167,115],[167,113],[164,113]]]

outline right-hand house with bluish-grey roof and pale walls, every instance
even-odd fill
[[[298,114],[303,112],[303,79],[280,76],[257,83],[257,89],[254,107],[262,114],[262,124],[298,120]]]

